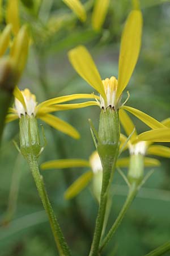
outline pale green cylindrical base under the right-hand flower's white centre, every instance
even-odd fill
[[[143,180],[144,173],[144,156],[142,154],[130,155],[130,164],[128,171],[129,183],[139,185]]]

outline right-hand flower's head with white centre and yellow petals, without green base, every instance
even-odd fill
[[[162,121],[162,125],[164,125],[163,129],[155,129],[151,131],[146,131],[142,134],[137,134],[137,131],[135,130],[135,126],[129,115],[123,110],[120,110],[120,122],[122,127],[124,127],[124,130],[126,134],[128,135],[128,138],[125,137],[125,135],[121,134],[120,140],[121,140],[121,147],[123,144],[126,144],[129,148],[130,155],[156,155],[156,156],[163,156],[165,158],[170,158],[170,148],[165,147],[162,145],[153,145],[153,142],[159,141],[163,142],[164,136],[167,136],[167,141],[170,141],[170,133],[168,127],[170,126],[170,119],[165,119]],[[164,132],[163,132],[164,131]],[[155,133],[157,137],[155,138]],[[169,133],[169,137],[168,134]],[[147,140],[149,142],[147,142]],[[151,160],[152,161],[152,160]]]

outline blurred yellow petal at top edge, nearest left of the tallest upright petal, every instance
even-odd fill
[[[96,0],[92,13],[92,27],[99,31],[107,15],[110,0]]]

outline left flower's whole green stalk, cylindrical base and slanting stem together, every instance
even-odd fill
[[[39,192],[42,205],[48,215],[50,226],[53,232],[54,240],[61,256],[70,256],[70,250],[63,237],[61,228],[59,227],[57,218],[54,214],[52,205],[50,204],[48,194],[42,175],[40,175],[37,159],[41,152],[39,129],[37,120],[33,115],[22,115],[19,120],[20,127],[20,151],[28,162],[28,166],[32,172],[33,179]]]

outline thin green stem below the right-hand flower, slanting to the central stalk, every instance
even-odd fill
[[[131,203],[133,202],[135,196],[137,195],[137,192],[138,192],[137,185],[135,183],[131,184],[131,187],[130,187],[129,193],[128,193],[128,197],[125,201],[125,204],[123,205],[123,207],[121,209],[121,212],[118,214],[118,217],[117,217],[116,221],[114,222],[112,228],[109,230],[107,236],[104,238],[103,242],[101,243],[101,246],[99,248],[100,253],[104,249],[105,245],[107,245],[109,240],[111,240],[113,234],[116,232],[118,226],[121,224],[121,221],[124,218],[125,213],[129,209]]]

